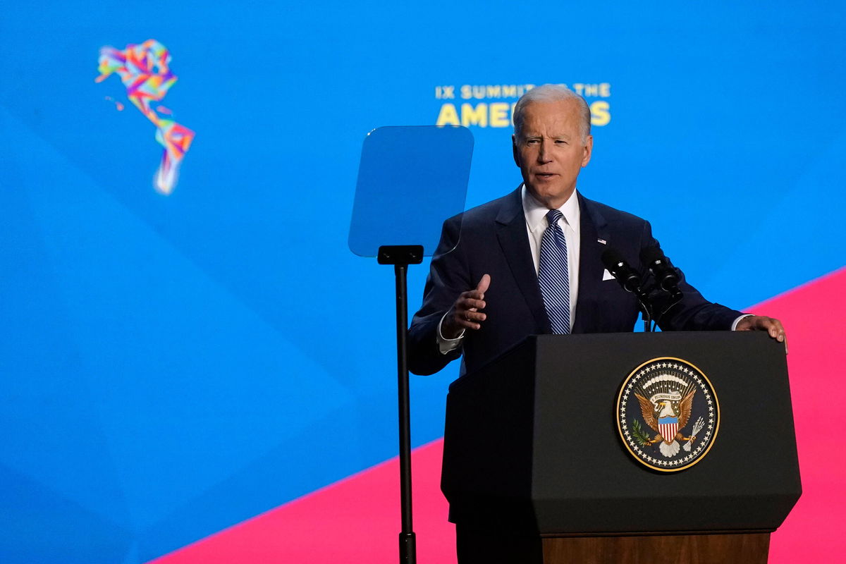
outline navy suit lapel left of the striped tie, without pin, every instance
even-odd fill
[[[547,310],[543,307],[541,289],[537,285],[535,262],[531,258],[529,234],[526,231],[523,200],[520,189],[509,197],[497,215],[497,238],[508,261],[511,274],[517,282],[520,293],[526,300],[535,318],[537,333],[551,331]]]

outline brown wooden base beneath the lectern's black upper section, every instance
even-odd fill
[[[769,533],[638,536],[495,534],[458,527],[459,564],[766,564]]]

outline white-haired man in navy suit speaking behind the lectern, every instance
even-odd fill
[[[520,187],[444,222],[409,329],[415,374],[462,354],[463,371],[473,371],[529,335],[634,329],[638,298],[614,281],[602,255],[615,249],[643,277],[640,257],[660,247],[649,222],[576,190],[593,148],[587,103],[563,86],[530,90],[514,107],[512,140]],[[712,304],[683,276],[678,290],[678,303],[655,312],[663,331],[762,330],[785,339],[778,320]]]

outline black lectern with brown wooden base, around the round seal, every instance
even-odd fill
[[[624,380],[660,357],[695,364],[720,407],[706,456],[672,473],[636,460],[615,417]],[[450,386],[442,490],[450,520],[490,539],[489,561],[766,562],[801,494],[783,344],[730,331],[529,337]]]

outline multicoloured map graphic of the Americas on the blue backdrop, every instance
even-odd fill
[[[95,79],[102,82],[109,75],[118,73],[126,86],[129,101],[156,125],[156,140],[164,151],[153,185],[162,194],[173,192],[179,178],[179,165],[194,140],[194,131],[173,119],[159,116],[157,112],[172,113],[167,107],[157,106],[154,110],[150,106],[151,101],[162,101],[177,80],[168,66],[170,59],[167,47],[154,39],[140,45],[130,43],[124,51],[102,47],[98,67],[100,75]],[[123,107],[118,105],[120,109]]]

